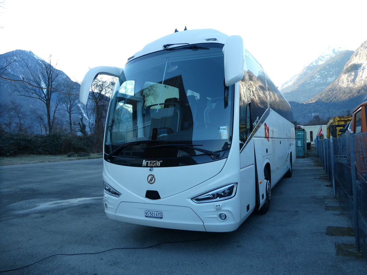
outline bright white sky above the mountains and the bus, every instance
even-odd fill
[[[89,68],[123,67],[177,28],[240,35],[281,86],[328,47],[367,40],[364,0],[0,0],[0,54],[32,51],[74,80]]]

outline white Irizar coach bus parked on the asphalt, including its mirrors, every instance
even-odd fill
[[[217,30],[184,30],[146,45],[118,77],[106,121],[103,205],[114,220],[193,231],[236,230],[266,213],[292,175],[291,107],[243,47]]]

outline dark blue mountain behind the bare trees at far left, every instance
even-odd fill
[[[51,72],[52,83],[48,79]],[[0,77],[0,129],[14,133],[48,132],[46,104],[50,105],[48,109],[55,131],[67,130],[71,128],[70,124],[77,125],[78,108],[81,110],[77,97],[80,85],[55,69],[51,59],[47,62],[31,51],[20,49],[1,54]],[[50,93],[51,97],[46,99]],[[44,100],[36,99],[37,96],[43,96]],[[74,109],[69,118],[71,104]]]

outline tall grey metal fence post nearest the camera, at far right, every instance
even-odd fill
[[[350,131],[349,140],[350,140],[350,170],[352,172],[354,231],[356,235],[356,250],[360,251],[359,228],[358,228],[358,195],[356,186],[356,163],[354,155],[354,134],[352,131]]]

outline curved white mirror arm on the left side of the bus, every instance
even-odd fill
[[[88,95],[90,88],[92,86],[93,80],[97,78],[100,74],[105,74],[106,76],[115,76],[119,77],[123,72],[122,68],[118,67],[109,67],[109,66],[99,66],[90,69],[81,81],[80,91],[79,91],[79,100],[84,105],[87,105]]]

